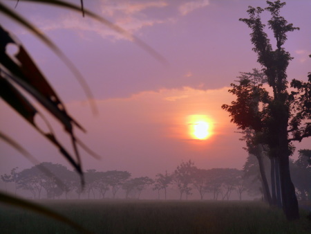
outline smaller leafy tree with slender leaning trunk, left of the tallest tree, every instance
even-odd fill
[[[261,120],[263,111],[259,110],[260,105],[265,109],[267,102],[270,100],[267,91],[263,88],[263,83],[266,82],[267,78],[264,73],[259,72],[257,69],[253,69],[252,73],[241,73],[238,78],[239,84],[231,84],[232,89],[229,89],[230,93],[237,96],[236,101],[233,101],[230,106],[223,105],[222,108],[229,111],[232,122],[236,123],[238,128],[243,129],[241,141],[245,141],[247,145],[244,149],[249,154],[256,156],[263,185],[263,196],[265,201],[272,205],[263,164],[263,156],[265,155]]]

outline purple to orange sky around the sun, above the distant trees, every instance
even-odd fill
[[[15,6],[15,1],[5,3]],[[281,15],[300,28],[288,34],[284,45],[294,57],[288,79],[307,80],[311,1],[286,3]],[[160,53],[167,61],[163,64],[131,39],[81,13],[19,1],[15,10],[52,39],[82,73],[93,92],[97,115],[75,76],[53,51],[11,19],[0,15],[0,21],[26,47],[70,115],[86,129],[86,134],[76,131],[77,136],[102,156],[97,160],[81,150],[84,170],[128,170],[133,176],[154,177],[165,170],[173,172],[189,159],[198,168],[243,168],[245,143],[239,141],[241,134],[221,105],[234,100],[228,89],[240,72],[261,69],[252,51],[250,30],[238,21],[247,17],[249,5],[266,6],[265,1],[246,0],[84,1],[85,8]],[[3,100],[0,109],[3,133],[39,161],[71,169]],[[70,149],[62,127],[53,118],[48,120]],[[209,125],[206,139],[193,134],[198,121]],[[296,150],[310,148],[310,143],[311,139],[296,143]],[[3,141],[0,151],[0,174],[16,166],[21,170],[32,166]]]

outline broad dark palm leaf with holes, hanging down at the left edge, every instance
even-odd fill
[[[34,62],[32,62],[26,50],[23,46],[18,45],[17,42],[10,36],[8,32],[0,27],[0,48],[1,48],[1,93],[0,96],[8,102],[8,104],[15,109],[23,118],[26,118],[28,122],[39,130],[41,134],[44,134],[37,125],[35,125],[34,117],[37,114],[37,109],[33,107],[30,102],[21,94],[8,80],[15,82],[22,89],[30,93],[41,105],[50,112],[57,120],[59,120],[66,132],[70,134],[77,157],[77,163],[73,159],[64,147],[56,140],[53,131],[48,134],[44,134],[49,141],[56,145],[60,152],[70,161],[70,163],[76,168],[76,170],[82,174],[81,163],[79,159],[79,152],[77,151],[75,136],[73,134],[73,124],[84,130],[77,121],[68,116],[66,109],[61,100],[57,97],[56,92],[50,87],[50,84],[41,74]],[[15,55],[15,60],[6,55],[5,48],[9,43],[14,43],[19,46],[19,52]],[[16,61],[17,60],[17,61]]]

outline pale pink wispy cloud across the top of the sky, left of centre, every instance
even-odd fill
[[[167,6],[164,2],[146,2],[146,3],[129,3],[128,1],[103,1],[100,8],[104,18],[112,18],[113,24],[123,28],[127,32],[134,34],[145,27],[151,27],[155,24],[162,24],[166,20],[153,19],[148,17],[142,11],[148,8],[162,8]],[[101,14],[101,15],[102,15]],[[76,30],[82,37],[87,37],[87,33],[97,33],[103,38],[112,39],[129,39],[131,35],[122,35],[116,30],[105,26],[90,17],[83,18],[81,15],[67,13],[58,17],[56,20],[46,19],[44,17],[32,17],[38,22],[38,26],[44,32],[58,29]],[[167,19],[169,21],[169,19]]]

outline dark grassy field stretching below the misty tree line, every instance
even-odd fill
[[[41,203],[43,201],[40,201]],[[92,233],[311,233],[308,212],[286,222],[258,201],[46,201]],[[0,233],[77,233],[30,211],[0,206]]]

